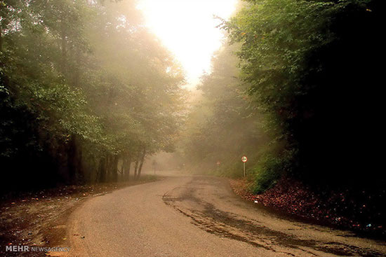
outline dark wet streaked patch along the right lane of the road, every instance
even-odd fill
[[[165,204],[178,210],[181,214],[192,219],[192,223],[197,227],[219,237],[235,239],[252,246],[274,251],[277,253],[286,253],[289,256],[295,256],[293,253],[279,251],[280,248],[289,248],[296,251],[303,251],[310,256],[318,256],[311,250],[331,253],[337,256],[364,256],[378,257],[383,253],[371,249],[361,249],[357,246],[350,246],[338,242],[319,242],[316,240],[305,240],[295,237],[295,235],[267,228],[254,219],[239,216],[232,212],[216,209],[209,202],[204,202],[197,193],[203,190],[205,186],[215,186],[213,181],[194,178],[187,186],[175,188],[166,193],[162,198]],[[189,208],[186,202],[194,202],[199,208]],[[185,206],[184,206],[185,205]]]

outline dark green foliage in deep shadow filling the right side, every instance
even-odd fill
[[[318,183],[385,178],[373,160],[383,1],[249,2],[223,28],[242,42],[249,95],[286,141],[283,169]]]

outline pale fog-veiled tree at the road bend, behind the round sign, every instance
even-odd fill
[[[237,176],[241,156],[248,155],[254,163],[267,143],[259,125],[261,113],[244,94],[247,85],[237,78],[235,49],[223,46],[212,59],[211,74],[201,77],[201,101],[189,113],[181,143],[192,169]]]

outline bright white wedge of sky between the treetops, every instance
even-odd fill
[[[193,88],[203,71],[210,72],[211,56],[221,46],[220,21],[229,18],[237,0],[139,0],[147,26],[171,50]]]

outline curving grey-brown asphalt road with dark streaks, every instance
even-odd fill
[[[386,256],[385,242],[284,218],[225,179],[168,176],[94,197],[69,218],[72,256]]]

